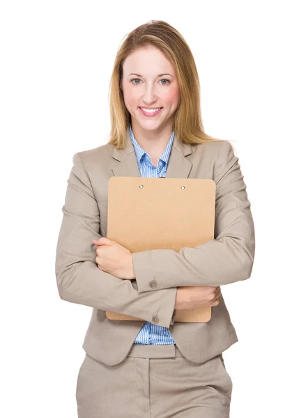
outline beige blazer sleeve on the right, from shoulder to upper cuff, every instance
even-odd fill
[[[173,286],[221,286],[248,279],[255,251],[246,185],[229,141],[221,141],[216,183],[215,239],[197,247],[132,254],[139,293]]]

